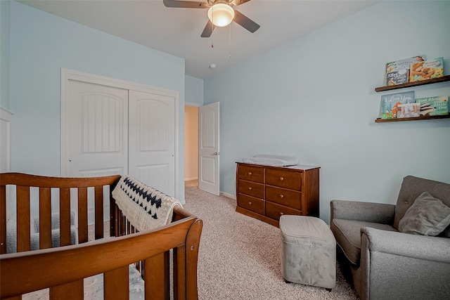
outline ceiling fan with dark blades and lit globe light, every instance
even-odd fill
[[[259,29],[259,25],[245,15],[236,11],[234,6],[245,4],[250,0],[207,0],[202,1],[183,1],[183,0],[163,0],[166,7],[176,8],[209,8],[208,22],[203,30],[201,37],[210,37],[216,26],[224,27],[231,22],[236,22],[250,32]]]

